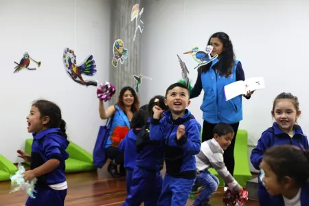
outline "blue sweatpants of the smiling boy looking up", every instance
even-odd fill
[[[194,179],[174,178],[165,174],[158,206],[185,206]]]

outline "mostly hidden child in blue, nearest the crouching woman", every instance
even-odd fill
[[[124,152],[124,168],[126,168],[126,194],[130,194],[130,185],[132,179],[132,172],[135,169],[135,159],[137,156],[136,152],[136,135],[139,133],[141,128],[146,124],[146,121],[149,117],[148,113],[148,104],[141,106],[139,110],[134,113],[130,130],[128,134],[120,142],[118,149],[120,152]]]

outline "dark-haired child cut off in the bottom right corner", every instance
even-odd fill
[[[264,153],[261,168],[266,190],[279,196],[272,206],[309,205],[309,151],[297,146],[273,146]]]

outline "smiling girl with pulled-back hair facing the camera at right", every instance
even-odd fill
[[[296,124],[301,114],[296,96],[291,93],[277,95],[273,102],[271,114],[275,119],[273,126],[262,133],[258,145],[251,152],[251,163],[256,170],[260,170],[264,152],[272,146],[290,144],[306,150],[309,148],[306,135],[304,135],[301,127]],[[260,178],[258,196],[261,206],[271,205],[271,200],[275,198],[268,194]]]

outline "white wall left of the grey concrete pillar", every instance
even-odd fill
[[[92,152],[102,124],[96,87],[83,87],[69,78],[62,64],[62,52],[65,47],[73,49],[78,64],[93,54],[98,69],[93,79],[99,83],[108,80],[106,68],[111,63],[113,44],[110,1],[0,2],[0,153],[12,162],[21,161],[16,159],[16,150],[23,149],[25,139],[32,138],[27,133],[25,117],[32,101],[38,98],[56,102],[67,122],[69,139]],[[14,61],[19,62],[24,52],[41,61],[41,67],[13,73]],[[34,62],[30,65],[36,66]]]

